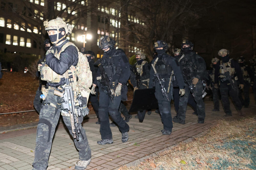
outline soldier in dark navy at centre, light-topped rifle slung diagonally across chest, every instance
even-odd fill
[[[158,101],[160,115],[164,125],[164,129],[162,129],[161,132],[163,135],[170,135],[173,128],[170,106],[170,100],[173,96],[172,75],[174,74],[178,81],[178,86],[180,88],[179,93],[181,96],[185,94],[185,84],[178,61],[174,57],[166,54],[168,48],[166,42],[158,40],[155,42],[154,48],[157,52],[157,56],[152,60],[152,64],[159,75],[159,79],[162,82],[164,89],[161,88],[158,78],[156,77],[157,75],[154,74],[153,66],[150,70],[149,88],[152,88],[155,84],[155,96]],[[162,90],[166,90],[165,92],[167,96],[162,94]]]

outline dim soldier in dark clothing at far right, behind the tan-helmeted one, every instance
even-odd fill
[[[239,99],[241,100],[242,105],[244,105],[245,108],[248,108],[250,103],[249,90],[250,90],[250,83],[253,82],[253,72],[251,68],[245,64],[245,59],[243,56],[240,56],[237,61],[243,73],[243,86],[244,86],[243,89],[239,90]],[[242,91],[244,94],[244,100],[242,97]]]

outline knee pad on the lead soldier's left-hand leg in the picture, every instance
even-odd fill
[[[47,138],[50,141],[52,124],[47,119],[40,119],[37,126],[37,138]]]

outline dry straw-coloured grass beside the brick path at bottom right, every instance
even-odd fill
[[[220,120],[218,124],[189,143],[157,153],[140,165],[119,170],[138,169],[255,169],[256,118]],[[251,160],[252,158],[252,160]]]

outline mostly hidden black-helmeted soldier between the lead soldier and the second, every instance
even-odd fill
[[[85,51],[84,52],[84,56],[87,57],[89,65],[90,65],[90,70],[92,72],[92,79],[94,80],[96,78],[96,74],[98,71],[98,67],[95,66],[95,62],[94,62],[94,58],[95,58],[95,54],[93,51]],[[99,119],[99,100],[98,100],[98,94],[99,94],[99,88],[96,87],[95,89],[96,94],[91,94],[89,96],[89,100],[92,103],[92,107],[93,110],[95,112],[95,114],[97,115],[98,121],[96,122],[96,124],[100,124],[100,119]]]

